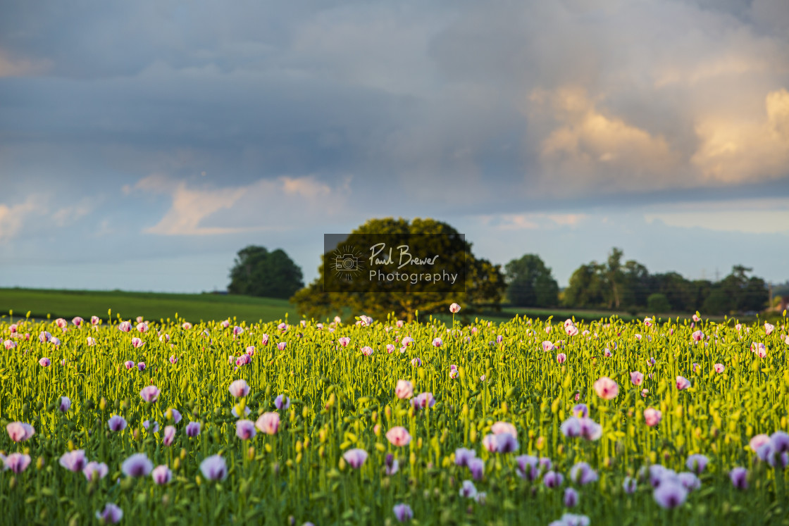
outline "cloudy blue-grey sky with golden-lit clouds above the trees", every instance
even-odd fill
[[[323,233],[431,217],[559,285],[789,279],[789,3],[3,2],[0,286],[316,278]]]

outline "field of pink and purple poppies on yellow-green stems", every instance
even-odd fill
[[[789,524],[785,312],[0,341],[5,524]]]

